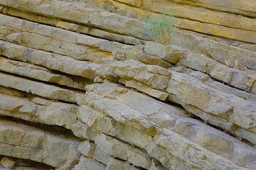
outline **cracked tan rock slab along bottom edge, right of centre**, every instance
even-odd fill
[[[169,133],[168,130],[166,132]],[[215,157],[211,152],[203,152],[203,147],[193,145],[185,139],[182,139],[181,142],[179,135],[172,132],[170,135],[166,135],[166,132],[156,139],[156,144],[148,147],[147,152],[151,157],[159,159],[169,169],[205,169],[206,167],[208,169],[215,169],[216,167],[218,169],[245,169],[236,166],[224,157]],[[193,162],[190,162],[191,154],[194,155]]]

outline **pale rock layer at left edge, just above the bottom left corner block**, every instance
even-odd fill
[[[0,115],[21,118],[36,123],[59,125],[70,129],[75,123],[77,106],[42,98],[20,98],[0,94]]]

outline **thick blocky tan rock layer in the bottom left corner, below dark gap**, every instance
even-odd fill
[[[78,140],[1,120],[0,154],[68,169],[78,160]],[[58,152],[55,152],[58,150]]]

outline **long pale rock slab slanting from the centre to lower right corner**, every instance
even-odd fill
[[[155,101],[153,98],[139,94],[138,92],[131,90],[125,91],[122,86],[117,86],[115,84],[95,84],[90,85],[90,88],[87,88],[97,94],[100,94],[101,96],[112,98],[112,100],[122,101],[122,103],[132,106],[132,108],[137,109],[137,111],[140,111],[144,115],[148,116],[149,120],[154,121],[154,123],[157,123],[160,127],[168,128],[179,135],[183,135],[183,137],[186,137],[191,142],[195,142],[197,145],[201,145],[205,149],[208,149],[215,154],[219,154],[233,160],[239,166],[246,166],[247,168],[254,166],[252,165],[252,162],[255,161],[252,161],[252,159],[255,157],[253,156],[255,155],[255,149],[242,144],[238,140],[233,139],[233,137],[230,137],[223,132],[215,130],[214,128],[209,128],[208,125],[205,125],[204,123],[193,120],[193,118],[188,118],[188,113],[184,112],[178,107]],[[151,104],[149,105],[147,103]],[[112,107],[112,110],[115,110],[114,106]],[[213,116],[209,116],[208,120],[214,121],[215,118]],[[215,125],[221,123],[221,121],[220,119],[217,119]],[[225,123],[225,125],[230,125],[230,123]],[[247,137],[247,139],[250,138],[251,141],[255,141],[255,137],[253,137],[252,132],[248,133],[248,131],[245,131],[243,133],[244,135],[242,135],[242,132],[240,134],[240,131],[239,133],[238,131],[234,133],[239,134],[241,137]],[[119,136],[117,136],[117,138],[119,138]],[[125,138],[119,139],[130,143],[130,141]],[[238,157],[235,156],[238,153],[241,155],[239,160],[237,159]],[[247,157],[251,158],[250,161],[247,161]]]

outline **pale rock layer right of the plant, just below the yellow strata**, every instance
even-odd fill
[[[246,68],[256,69],[255,52],[242,49],[238,41],[230,45],[230,40],[228,42],[223,39],[216,41],[212,37],[206,37],[202,34],[177,30],[172,39],[172,45],[178,45],[186,50],[201,53],[229,67],[242,70]]]

